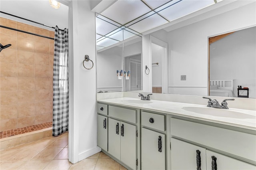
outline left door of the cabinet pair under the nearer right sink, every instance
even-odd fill
[[[206,170],[206,148],[171,138],[172,170]]]

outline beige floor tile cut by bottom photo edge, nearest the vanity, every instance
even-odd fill
[[[98,158],[95,170],[120,170],[120,164],[111,158]]]

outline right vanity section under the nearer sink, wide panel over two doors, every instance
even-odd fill
[[[255,134],[171,118],[171,135],[172,170],[256,170]]]

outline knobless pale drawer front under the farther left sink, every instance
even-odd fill
[[[108,115],[124,121],[136,123],[136,110],[108,106]]]

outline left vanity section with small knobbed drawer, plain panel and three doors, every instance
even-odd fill
[[[140,169],[137,160],[140,157],[137,155],[140,149],[138,120],[139,109],[98,103],[98,146],[114,160],[133,170]]]

